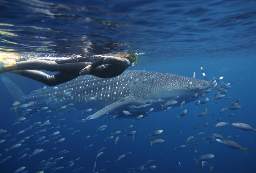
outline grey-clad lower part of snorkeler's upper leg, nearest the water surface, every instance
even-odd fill
[[[13,71],[13,70],[47,70],[59,71],[59,66],[55,61],[46,61],[40,59],[32,59],[27,61],[19,61],[5,64],[0,73]]]

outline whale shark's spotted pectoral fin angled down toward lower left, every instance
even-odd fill
[[[109,113],[111,110],[114,110],[120,106],[132,103],[132,102],[137,102],[137,98],[136,97],[131,97],[131,96],[127,96],[124,97],[120,100],[118,100],[117,102],[114,102],[110,105],[107,105],[106,107],[104,107],[103,109],[99,110],[98,112],[96,112],[95,114],[92,115],[92,117],[90,117],[91,119],[96,119],[99,118],[103,115],[106,115],[107,113]]]

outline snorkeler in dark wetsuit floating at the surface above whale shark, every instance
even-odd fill
[[[80,57],[60,61],[27,60],[7,63],[0,59],[0,73],[12,72],[21,76],[55,86],[70,81],[80,75],[93,75],[100,78],[112,78],[121,75],[126,68],[137,63],[137,54]],[[42,71],[59,71],[48,75]]]

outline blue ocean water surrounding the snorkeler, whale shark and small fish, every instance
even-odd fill
[[[232,88],[227,89],[225,94],[230,99],[221,99],[214,105],[212,103],[216,100],[210,100],[197,108],[194,101],[182,108],[150,113],[145,119],[136,122],[131,119],[108,120],[106,115],[81,123],[78,121],[85,115],[80,111],[62,115],[55,111],[33,114],[20,124],[11,126],[17,120],[15,112],[9,109],[14,100],[1,81],[0,129],[7,132],[0,133],[0,140],[5,139],[0,144],[0,162],[12,156],[0,164],[1,173],[11,173],[22,166],[26,167],[23,171],[29,173],[92,173],[95,161],[97,164],[94,172],[105,169],[106,173],[125,173],[135,171],[151,159],[154,161],[147,163],[145,168],[151,165],[156,165],[156,168],[147,172],[200,173],[209,172],[210,166],[213,166],[213,173],[256,172],[256,132],[240,131],[231,125],[242,122],[256,128],[255,1],[12,0],[1,1],[0,9],[0,51],[6,61],[55,60],[83,54],[136,52],[139,54],[138,64],[128,70],[159,71],[188,77],[192,77],[195,72],[196,78],[204,79],[200,70],[203,67],[208,80],[223,76],[221,81],[232,82]],[[4,75],[15,81],[25,94],[44,86],[12,73]],[[203,98],[213,98],[214,93],[212,91]],[[219,113],[238,99],[242,108]],[[202,101],[202,98],[199,100]],[[208,113],[204,117],[195,117],[204,112],[206,107]],[[188,113],[178,119],[176,115],[180,115],[184,109]],[[212,115],[214,113],[216,115]],[[232,113],[234,115],[228,117]],[[219,118],[221,120],[216,121]],[[35,122],[45,120],[50,120],[51,124],[41,128],[33,127],[16,135]],[[215,124],[222,121],[229,125],[215,127]],[[208,126],[201,129],[205,123]],[[97,132],[97,127],[101,125],[108,127]],[[123,136],[127,134],[125,129],[130,125],[133,125],[130,131],[136,131],[134,141],[131,136],[126,139]],[[67,130],[70,128],[73,130]],[[42,129],[46,131],[37,134]],[[159,129],[163,133],[150,139],[149,135]],[[80,131],[72,135],[76,130]],[[58,139],[64,137],[63,142],[54,144],[58,139],[48,137],[55,131],[60,131]],[[114,144],[117,135],[104,142],[115,131],[121,131],[117,146]],[[185,144],[189,136],[196,136],[199,132],[205,133],[198,136],[194,143],[188,142],[185,148],[174,149]],[[227,148],[217,141],[205,144],[202,137],[214,133],[223,137],[231,135],[229,140],[239,143],[243,148],[249,147],[249,154],[245,154],[242,149]],[[88,135],[90,137],[85,139]],[[235,138],[237,135],[239,137]],[[5,151],[26,136],[30,137],[22,143],[23,146],[8,153]],[[42,136],[45,136],[43,140],[49,142],[36,142]],[[154,139],[163,139],[164,142],[151,146],[150,142]],[[188,151],[196,143],[199,145]],[[93,146],[85,149],[89,144]],[[105,147],[102,156],[95,159],[97,151]],[[26,148],[29,151],[22,151]],[[24,153],[32,154],[35,149],[44,151],[31,158],[21,158]],[[195,149],[197,153],[191,155]],[[63,150],[69,152],[59,153]],[[125,154],[128,152],[132,154]],[[125,157],[116,163],[115,160],[122,154]],[[214,158],[202,169],[201,163],[196,164],[193,158],[198,159],[204,154],[214,154]],[[63,158],[54,163],[53,160],[59,157]],[[77,158],[80,159],[74,161]],[[47,160],[53,163],[52,166],[46,166]],[[71,167],[70,161],[74,161]],[[64,168],[61,170],[54,171],[54,168],[62,166]],[[127,171],[129,168],[135,169]]]

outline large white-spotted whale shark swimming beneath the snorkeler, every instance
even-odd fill
[[[190,97],[195,93],[202,95],[211,91],[211,83],[206,80],[145,70],[126,70],[119,76],[107,79],[91,75],[79,76],[54,87],[44,87],[29,95],[24,95],[21,88],[9,78],[3,75],[0,78],[12,98],[21,101],[20,105],[36,102],[31,107],[14,107],[17,118],[31,116],[44,108],[44,111],[57,110],[60,114],[93,109],[90,119],[106,114],[134,119],[140,114],[148,114],[149,110],[169,110],[170,108],[163,105],[170,100],[176,100],[177,103],[172,107],[178,107],[183,101],[194,101]],[[159,98],[163,103],[157,101]],[[133,109],[130,109],[131,105],[134,105]],[[124,110],[131,114],[125,115]]]

